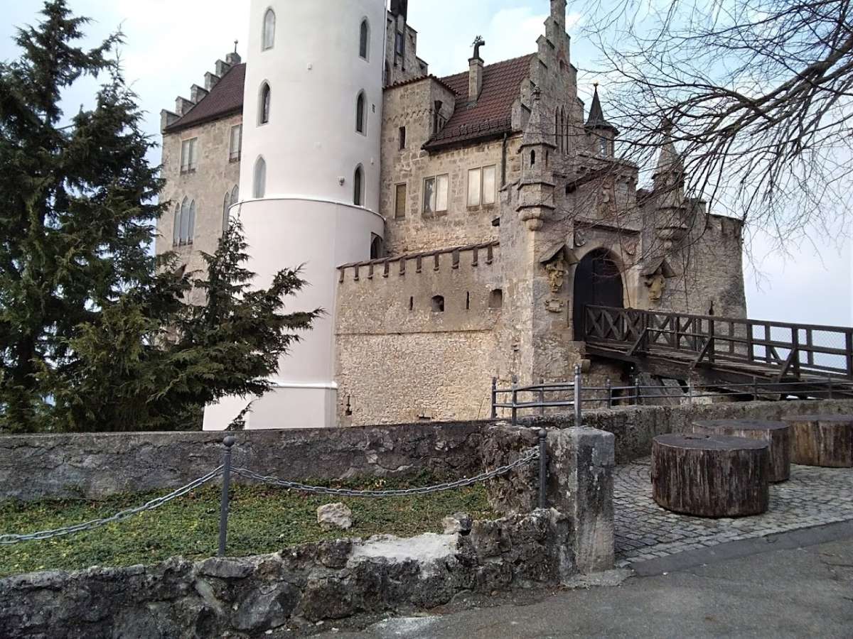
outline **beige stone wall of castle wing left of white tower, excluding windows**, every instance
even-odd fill
[[[169,202],[157,223],[155,250],[158,254],[173,250],[188,271],[204,271],[201,252],[213,253],[223,233],[223,203],[226,193],[240,182],[240,162],[231,162],[231,127],[241,124],[242,115],[234,115],[177,133],[163,135],[163,158],[160,175],[165,187],[160,201]],[[198,139],[198,168],[181,173],[181,144]],[[195,233],[193,244],[175,246],[172,237],[175,210],[184,198],[195,200]],[[193,300],[200,302],[201,300]]]

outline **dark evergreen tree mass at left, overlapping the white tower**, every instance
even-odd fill
[[[149,247],[164,210],[136,96],[110,60],[120,34],[74,44],[84,18],[48,0],[0,63],[0,430],[197,425],[201,406],[260,394],[317,312],[281,314],[298,271],[252,291],[239,224],[209,272],[176,273]],[[63,89],[104,77],[95,107],[61,126]],[[197,287],[207,302],[185,302]]]

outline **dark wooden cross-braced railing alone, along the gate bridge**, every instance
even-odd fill
[[[804,374],[853,379],[853,328],[847,326],[588,306],[584,338],[621,344],[627,354],[693,354],[694,365],[725,360],[778,367],[780,379]]]

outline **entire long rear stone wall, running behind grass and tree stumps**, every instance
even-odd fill
[[[853,413],[853,400],[630,406],[584,412],[583,423],[612,433],[616,462],[625,463],[647,456],[655,435],[685,432],[696,419],[780,419],[813,412]],[[483,452],[484,434],[494,423],[247,430],[236,434],[234,461],[290,480],[411,477],[423,471],[455,479],[494,467]],[[565,414],[520,423],[574,425]],[[0,435],[0,499],[102,498],[181,486],[221,463],[222,438],[214,432]]]

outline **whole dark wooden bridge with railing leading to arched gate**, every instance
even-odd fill
[[[824,396],[834,384],[853,395],[851,327],[587,306],[583,334],[588,354],[659,377]]]

